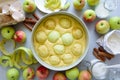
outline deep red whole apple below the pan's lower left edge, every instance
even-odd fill
[[[49,75],[49,70],[44,66],[40,66],[36,71],[36,75],[39,79],[46,79]]]

